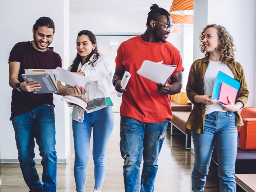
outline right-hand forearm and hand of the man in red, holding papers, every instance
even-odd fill
[[[182,87],[182,71],[177,72],[174,76],[171,76],[171,84],[160,84],[158,83],[158,92],[160,94],[174,95],[179,93]]]

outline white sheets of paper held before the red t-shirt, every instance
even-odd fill
[[[172,75],[175,68],[176,65],[165,65],[161,64],[160,62],[156,63],[149,60],[144,60],[137,73],[156,83],[164,84]]]

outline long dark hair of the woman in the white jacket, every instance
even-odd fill
[[[95,35],[91,32],[91,31],[88,31],[88,30],[82,30],[78,33],[77,37],[80,37],[82,35],[87,35],[90,39],[90,41],[92,42],[92,44],[96,44],[96,47],[94,48],[94,50],[92,50],[92,52],[88,55],[88,57],[86,58],[86,63],[89,61],[89,64],[94,64],[94,62],[96,62],[96,60],[98,60],[100,54],[98,53],[98,48],[97,48],[97,42],[96,42],[96,37]],[[90,58],[91,56],[94,55],[92,61],[90,61]],[[76,58],[74,59],[72,65],[71,65],[71,69],[70,71],[71,72],[77,72],[77,67],[78,65],[80,64],[80,62],[82,62],[82,57],[77,53],[76,54]]]

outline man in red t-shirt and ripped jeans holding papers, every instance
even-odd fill
[[[120,150],[124,158],[126,192],[152,192],[158,169],[157,160],[172,119],[170,99],[181,90],[182,60],[180,52],[166,42],[173,26],[168,11],[154,4],[148,13],[144,34],[123,42],[117,51],[113,85],[122,92],[120,106]],[[136,72],[144,60],[176,65],[166,84],[156,84]],[[126,89],[121,88],[125,71],[131,77]],[[140,162],[143,169],[140,183]]]

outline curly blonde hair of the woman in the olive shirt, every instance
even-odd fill
[[[213,27],[217,29],[218,38],[220,40],[220,45],[215,48],[216,52],[220,54],[220,61],[224,64],[228,64],[228,61],[235,60],[234,51],[236,46],[234,46],[234,41],[232,36],[228,33],[226,28],[216,24],[207,25],[200,34],[200,50],[202,53],[206,52],[203,46],[204,32],[206,29]],[[210,52],[206,52],[205,56],[210,56]]]

